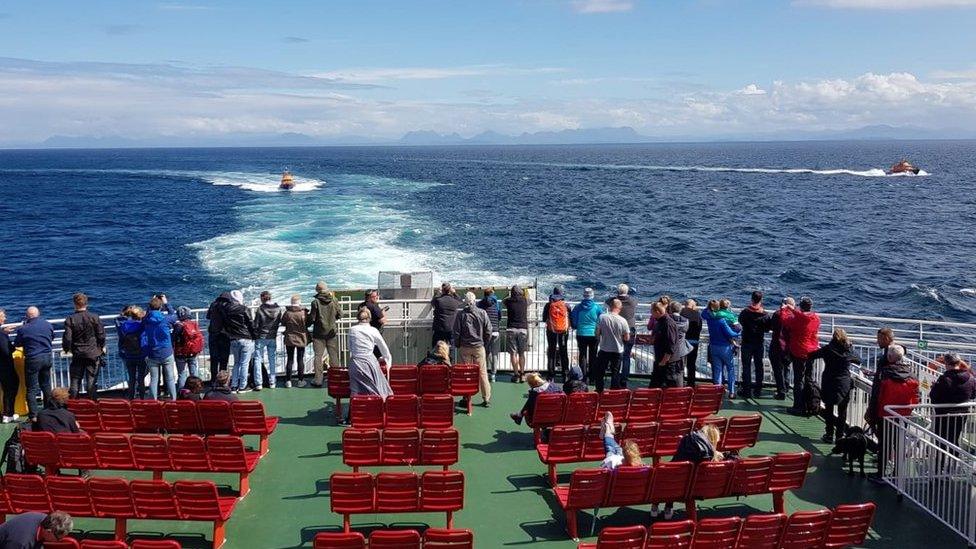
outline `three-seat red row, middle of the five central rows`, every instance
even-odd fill
[[[458,461],[454,429],[358,429],[342,432],[342,462],[359,471],[378,465],[441,465]]]

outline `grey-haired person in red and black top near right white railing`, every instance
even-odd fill
[[[879,376],[881,385],[878,388],[877,399],[869,405],[869,412],[872,412],[872,417],[877,418],[873,428],[878,437],[878,472],[869,477],[874,482],[884,482],[884,471],[888,461],[887,456],[890,453],[890,448],[887,448],[887,445],[891,443],[890,440],[887,440],[890,433],[885,433],[887,426],[885,425],[884,418],[894,416],[895,414],[909,416],[912,413],[911,408],[902,408],[889,412],[885,410],[885,407],[908,406],[918,404],[919,402],[918,380],[915,379],[908,365],[903,360],[905,358],[905,348],[900,345],[892,345],[888,347],[888,353],[885,358],[886,366]],[[897,461],[898,456],[896,455],[894,457]]]

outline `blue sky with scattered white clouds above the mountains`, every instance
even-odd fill
[[[0,146],[976,127],[976,0],[0,2]]]

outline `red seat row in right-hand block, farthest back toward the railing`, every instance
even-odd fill
[[[532,421],[537,434],[543,427],[587,425],[612,412],[614,421],[703,419],[722,408],[725,387],[696,385],[668,389],[611,389],[602,393],[544,393],[535,401]]]

